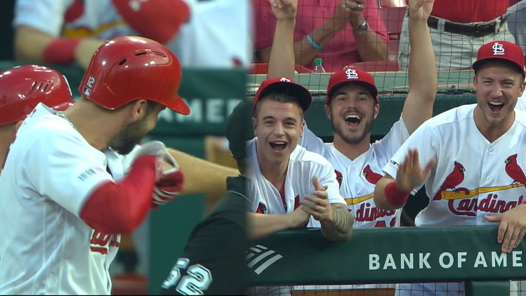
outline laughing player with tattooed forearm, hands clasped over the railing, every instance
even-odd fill
[[[350,238],[353,219],[332,165],[297,144],[311,102],[305,87],[285,77],[265,80],[256,93],[252,119],[256,137],[247,143],[247,175],[253,179],[247,195],[253,201],[253,229],[258,233],[254,238],[287,225],[306,225],[311,215],[309,226],[321,227],[328,239]],[[297,223],[282,223],[283,214],[291,213],[299,218],[293,219]]]

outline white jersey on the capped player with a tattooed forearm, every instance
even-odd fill
[[[256,153],[256,139],[247,142],[249,161],[247,175],[252,179],[247,196],[251,200],[251,211],[262,214],[292,213],[299,201],[312,194],[312,177],[318,177],[321,186],[327,185],[329,203],[345,204],[338,190],[338,182],[332,165],[321,155],[307,151],[300,145],[290,154],[287,176],[285,177],[285,204],[278,189],[262,175]],[[312,217],[309,227],[320,227],[320,222]]]

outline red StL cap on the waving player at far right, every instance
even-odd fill
[[[519,45],[508,41],[493,41],[482,45],[477,54],[477,61],[473,63],[473,70],[477,71],[484,61],[494,59],[512,62],[517,65],[518,70],[526,76],[526,71],[524,70],[524,54]]]

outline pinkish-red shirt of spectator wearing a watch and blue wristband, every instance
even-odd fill
[[[313,29],[320,27],[331,18],[339,2],[339,0],[298,1],[294,42],[302,40],[311,34]],[[256,49],[260,50],[272,46],[276,17],[272,14],[268,0],[252,0],[252,3],[254,3],[256,18]],[[366,0],[365,3],[363,16],[369,25],[369,29],[379,34],[387,42],[387,30],[380,16],[378,1]],[[331,41],[323,46],[323,50],[318,52],[316,57],[323,59],[323,68],[327,72],[335,72],[349,64],[362,62],[351,25],[347,25],[345,29],[338,32]],[[312,69],[314,67],[313,62],[310,62],[306,67]]]

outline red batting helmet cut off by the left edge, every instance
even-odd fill
[[[24,120],[38,103],[64,111],[73,104],[66,77],[52,68],[24,65],[0,72],[0,125]]]

